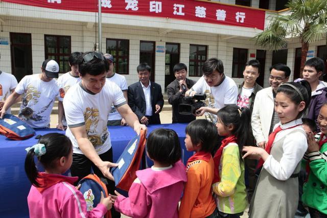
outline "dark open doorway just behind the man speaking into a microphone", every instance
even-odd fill
[[[174,81],[174,66],[179,63],[179,44],[166,43],[166,56],[165,56],[165,91],[166,87]]]

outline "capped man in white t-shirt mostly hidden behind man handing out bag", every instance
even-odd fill
[[[126,78],[113,71],[114,58],[112,55],[106,53],[103,56],[109,64],[108,66],[109,68],[106,71],[107,81],[111,81],[116,85],[118,85],[123,91],[126,102],[128,102],[128,98],[127,98],[128,86],[127,86]],[[108,118],[108,126],[125,126],[125,125],[126,125],[125,119],[122,118],[122,116],[119,114],[116,108],[112,105],[110,108],[110,113]]]

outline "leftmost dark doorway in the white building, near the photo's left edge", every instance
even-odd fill
[[[11,73],[19,82],[32,71],[32,36],[30,33],[10,33]]]

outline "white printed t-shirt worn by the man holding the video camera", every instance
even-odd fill
[[[223,108],[225,105],[237,104],[238,88],[236,83],[230,78],[225,77],[219,86],[208,86],[202,76],[192,89],[198,94],[206,94],[205,104],[209,108]],[[217,123],[217,116],[212,113],[205,113],[206,119],[212,123]]]

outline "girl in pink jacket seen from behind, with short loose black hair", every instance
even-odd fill
[[[151,168],[137,171],[137,178],[126,198],[111,196],[114,208],[133,218],[178,217],[178,201],[187,180],[185,166],[180,161],[181,149],[174,130],[156,129],[147,140],[147,155]]]

